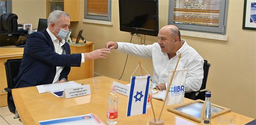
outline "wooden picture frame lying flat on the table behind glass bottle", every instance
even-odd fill
[[[167,108],[167,110],[175,114],[179,114],[188,119],[191,119],[193,121],[201,123],[201,112],[202,112],[203,106],[204,106],[204,101],[197,99],[188,103],[183,103],[180,105],[169,107]],[[212,103],[211,103],[211,106],[212,106],[212,118],[231,111],[231,109],[229,108],[225,108]]]

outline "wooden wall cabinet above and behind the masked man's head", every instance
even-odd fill
[[[79,0],[46,0],[47,18],[55,10],[67,12],[70,21],[79,21]]]

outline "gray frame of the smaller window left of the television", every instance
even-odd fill
[[[97,15],[87,15],[87,0],[84,0],[84,18],[85,19],[97,19],[97,20],[105,20],[105,21],[111,21],[111,3],[112,0],[108,0],[108,16],[97,16]]]

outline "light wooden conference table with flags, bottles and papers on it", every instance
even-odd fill
[[[16,109],[20,115],[23,124],[34,125],[39,124],[38,121],[71,117],[83,114],[93,113],[96,114],[103,122],[106,123],[107,119],[107,106],[108,106],[108,93],[112,86],[113,81],[128,84],[128,82],[116,80],[108,77],[101,77],[102,82],[100,86],[100,92],[93,91],[92,78],[83,80],[76,80],[78,83],[85,83],[85,85],[91,85],[91,95],[75,97],[65,99],[64,97],[56,97],[51,93],[39,94],[36,87],[26,87],[12,89],[12,95]],[[147,114],[135,115],[126,117],[128,97],[122,94],[118,94],[118,124],[147,124],[152,118],[151,108],[147,110]],[[160,109],[163,105],[163,101],[158,99],[152,99],[156,113],[156,117],[159,117]],[[185,102],[192,101],[185,98]],[[167,124],[199,124],[196,121],[189,120],[178,114],[167,111],[165,106],[161,119]],[[241,114],[229,112],[223,114],[223,116],[230,116],[233,118],[233,124],[240,125],[252,121],[253,119]],[[212,119],[212,124],[218,124],[217,118]]]

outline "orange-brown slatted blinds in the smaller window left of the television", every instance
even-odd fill
[[[108,0],[87,0],[87,15],[108,16]]]

